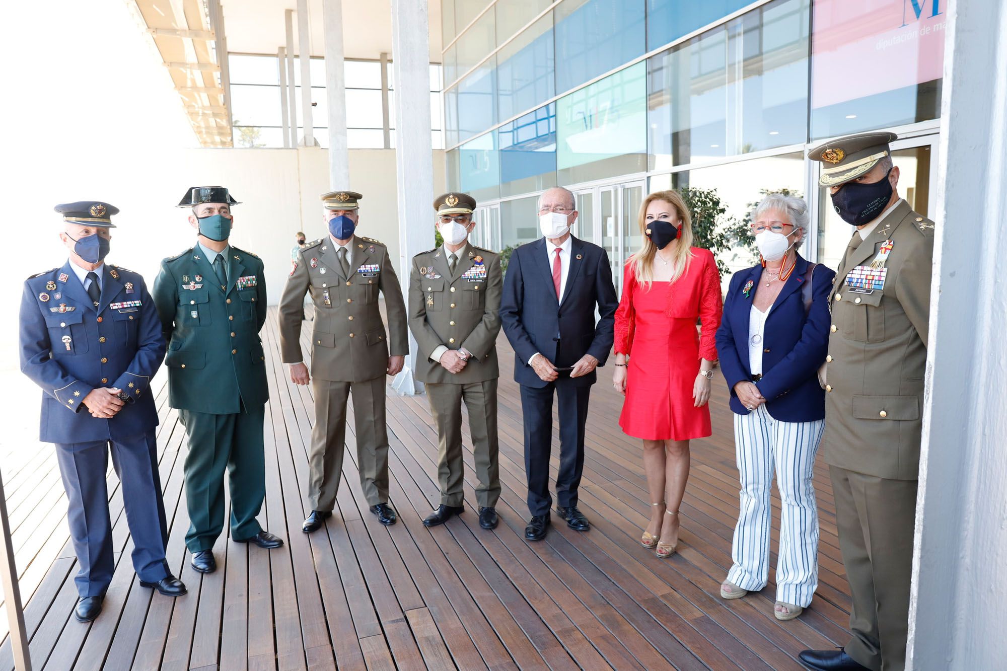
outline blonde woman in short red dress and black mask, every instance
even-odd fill
[[[679,542],[689,440],[711,433],[707,401],[723,306],[716,261],[709,250],[692,247],[692,220],[681,195],[648,195],[639,228],[643,247],[626,262],[615,312],[613,384],[626,397],[619,426],[643,439],[652,503],[640,543],[665,558]]]

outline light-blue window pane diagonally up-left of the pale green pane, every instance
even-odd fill
[[[547,14],[496,52],[500,120],[556,95],[553,17]]]

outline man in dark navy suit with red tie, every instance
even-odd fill
[[[514,379],[525,416],[525,471],[532,521],[525,538],[542,540],[549,527],[549,457],[553,394],[559,397],[560,471],[556,512],[567,526],[590,528],[577,509],[584,469],[584,423],[595,368],[612,349],[618,300],[608,255],[570,235],[577,221],[573,193],[550,188],[539,198],[543,238],[514,251],[503,280],[500,319],[515,351]],[[595,322],[597,307],[600,319]]]

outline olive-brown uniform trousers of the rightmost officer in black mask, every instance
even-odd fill
[[[846,654],[875,671],[905,668],[916,481],[829,474],[853,602]]]

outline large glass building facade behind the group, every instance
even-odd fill
[[[536,196],[567,186],[577,235],[615,268],[639,242],[631,211],[649,191],[716,188],[740,221],[765,191],[816,189],[804,253],[829,262],[849,227],[812,186],[807,150],[897,128],[912,144],[893,150],[911,175],[901,194],[925,212],[955,1],[445,0],[448,187],[492,209],[500,231],[487,239],[508,246],[537,238]]]

